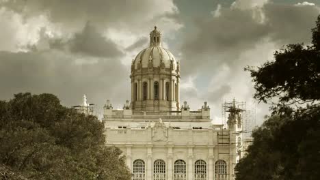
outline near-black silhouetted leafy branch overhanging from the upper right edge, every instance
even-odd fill
[[[254,98],[270,102],[278,98],[278,107],[283,104],[315,103],[320,100],[320,16],[317,27],[312,29],[312,46],[289,44],[274,52],[275,61],[262,67],[245,67],[250,71]]]

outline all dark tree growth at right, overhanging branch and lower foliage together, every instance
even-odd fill
[[[271,117],[252,133],[252,145],[235,168],[236,179],[319,179],[320,16],[310,46],[289,44],[274,59],[245,68],[253,78],[254,98],[274,106]]]

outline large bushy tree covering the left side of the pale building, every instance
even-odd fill
[[[0,175],[27,179],[130,179],[120,149],[105,147],[104,126],[51,94],[0,101]],[[4,176],[0,179],[5,179]]]

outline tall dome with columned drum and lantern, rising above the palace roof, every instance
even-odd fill
[[[179,109],[180,65],[174,55],[161,46],[157,27],[150,33],[150,46],[132,61],[130,77],[133,110]]]

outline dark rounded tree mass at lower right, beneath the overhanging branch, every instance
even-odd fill
[[[320,108],[273,115],[252,133],[236,180],[319,179]]]

